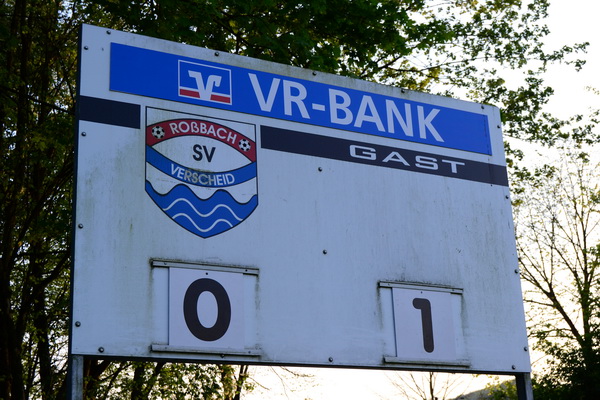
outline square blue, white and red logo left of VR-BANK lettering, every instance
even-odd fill
[[[231,71],[180,60],[179,95],[231,104]]]

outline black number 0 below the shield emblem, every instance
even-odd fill
[[[217,300],[217,321],[212,327],[205,327],[198,318],[198,299],[204,292],[210,292]],[[213,279],[198,279],[188,287],[183,299],[183,316],[190,332],[200,340],[213,342],[222,338],[231,323],[231,302],[225,288]]]

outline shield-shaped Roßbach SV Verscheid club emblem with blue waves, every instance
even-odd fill
[[[255,137],[253,125],[189,115],[147,123],[146,193],[202,238],[236,227],[258,206]]]

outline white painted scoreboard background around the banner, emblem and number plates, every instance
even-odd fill
[[[110,41],[481,113],[488,117],[492,155],[111,92]],[[315,78],[310,71],[244,57],[221,54],[215,59],[212,51],[116,31],[108,35],[90,26],[85,27],[83,45],[89,50],[82,56],[82,94],[140,104],[142,116],[147,107],[161,108],[176,115],[230,121],[232,127],[254,126],[259,133],[261,125],[268,125],[439,157],[504,163],[500,119],[492,107],[482,110],[473,103],[400,94],[325,74]],[[507,187],[268,150],[257,134],[258,207],[239,226],[203,239],[170,220],[146,194],[144,118],[141,126],[79,124],[86,135],[78,137],[76,224],[83,228],[77,229],[75,241],[73,320],[81,326],[73,328],[74,354],[529,371]],[[185,283],[169,286],[170,274],[153,268],[152,260],[258,271],[231,289],[241,285],[245,290],[243,311],[235,311],[244,313],[243,324],[236,328],[235,339],[223,344],[236,351],[221,357],[206,345],[203,354],[198,352],[202,343],[193,352],[152,350],[153,345],[168,343],[169,336],[177,338],[178,345],[193,344],[187,332],[173,331],[185,330],[181,323],[169,322],[175,312],[171,303],[179,300],[166,293],[183,290]],[[381,282],[462,290],[460,304],[455,305],[459,310],[451,310],[456,316],[454,332],[460,334],[455,339],[461,345],[444,352],[441,358],[447,365],[432,367],[419,364],[415,353],[398,354],[392,288],[380,287]],[[240,349],[260,354],[240,355]],[[408,364],[385,362],[386,357]]]

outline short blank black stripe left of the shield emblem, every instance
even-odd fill
[[[78,118],[82,121],[99,122],[126,128],[140,128],[140,105],[79,96]]]

